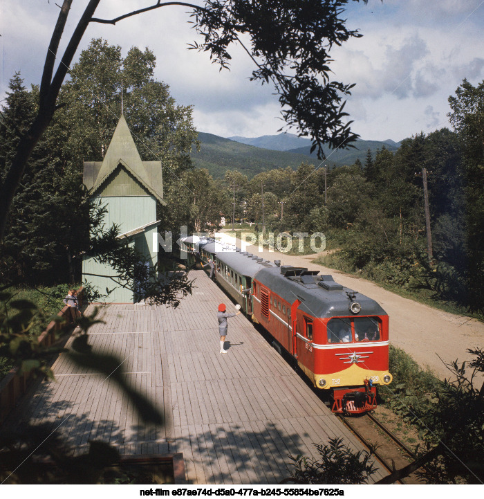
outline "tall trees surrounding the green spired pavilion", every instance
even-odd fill
[[[186,276],[173,272],[174,262],[164,253],[158,268],[148,271],[140,264],[142,258],[127,240],[118,239],[118,228],[104,226],[105,211],[82,187],[83,158],[102,160],[118,122],[121,80],[124,111],[136,120],[134,136],[142,156],[162,160],[165,172],[171,172],[168,187],[192,167],[192,109],[176,105],[169,87],[153,79],[155,66],[148,48],[142,52],[133,47],[123,58],[119,46],[102,39],[93,39],[82,52],[60,93],[65,106],[32,152],[14,197],[0,244],[3,284],[80,282],[84,254],[109,262],[118,273],[118,284],[132,288],[136,282],[155,302],[178,305],[178,292],[189,292]],[[15,130],[32,123],[39,95],[37,88],[27,91],[18,74],[10,89],[0,125],[3,176],[15,154]]]

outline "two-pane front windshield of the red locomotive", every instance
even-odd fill
[[[328,343],[353,343],[380,339],[378,317],[341,317],[328,321]]]

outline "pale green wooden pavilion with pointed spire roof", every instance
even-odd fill
[[[151,266],[156,265],[158,253],[152,248],[153,233],[160,223],[156,220],[156,203],[165,204],[161,161],[141,161],[124,116],[118,121],[104,160],[84,161],[83,182],[91,197],[106,208],[106,228],[117,224],[119,237],[126,238]],[[111,266],[92,257],[84,257],[82,276],[100,293],[113,289],[106,302],[138,300]]]

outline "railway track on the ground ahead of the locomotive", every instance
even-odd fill
[[[412,462],[416,455],[403,442],[395,437],[391,430],[384,426],[373,415],[366,413],[359,417],[344,417],[338,415],[348,428],[370,448],[376,445],[375,458],[384,466],[389,473],[395,469],[402,469]],[[401,484],[422,484],[425,483],[416,473],[411,473],[406,478],[400,480]]]

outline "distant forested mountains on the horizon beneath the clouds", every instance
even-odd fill
[[[293,134],[266,135],[256,138],[223,138],[212,134],[198,133],[201,142],[200,152],[193,150],[192,160],[196,167],[207,168],[216,178],[221,178],[226,170],[238,170],[249,178],[273,168],[290,166],[295,169],[302,162],[320,165],[315,154],[310,156],[311,142]],[[307,143],[304,147],[291,149],[297,143]],[[368,149],[373,156],[384,147],[394,152],[400,143],[393,140],[357,140],[356,148],[337,149],[327,154],[324,161],[328,166],[353,165],[357,159],[364,163]]]

